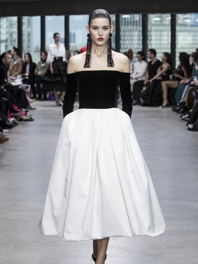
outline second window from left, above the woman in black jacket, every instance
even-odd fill
[[[30,53],[33,62],[40,61],[41,51],[41,17],[23,16],[23,57]]]

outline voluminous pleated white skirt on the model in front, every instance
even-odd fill
[[[128,114],[81,108],[65,116],[39,227],[65,241],[165,231]]]

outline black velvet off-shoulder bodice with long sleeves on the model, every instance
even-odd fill
[[[67,74],[66,92],[63,101],[63,117],[74,108],[78,87],[80,108],[116,107],[118,85],[122,99],[122,111],[131,118],[133,99],[130,85],[130,73],[113,70],[85,70]]]

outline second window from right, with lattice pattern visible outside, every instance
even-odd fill
[[[157,51],[161,60],[163,52],[171,53],[171,14],[148,15],[148,49]]]

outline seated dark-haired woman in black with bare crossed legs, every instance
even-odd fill
[[[181,80],[187,79],[190,76],[190,63],[189,63],[189,55],[186,52],[179,53],[179,65],[175,74],[172,75],[172,80],[164,81],[162,83],[162,90],[163,90],[163,103],[162,107],[166,106],[168,103],[168,87],[170,88],[177,88],[179,82]]]

